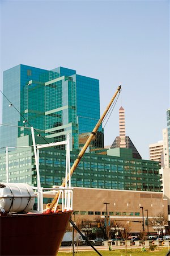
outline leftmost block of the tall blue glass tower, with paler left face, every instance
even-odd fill
[[[42,73],[45,73],[44,69],[27,65],[18,65],[3,73],[3,93],[18,112],[14,107],[9,107],[10,102],[3,97],[2,123],[12,126],[1,127],[1,147],[16,146],[16,138],[20,136],[18,126],[23,126],[24,120],[19,112],[27,117],[27,113],[24,113],[26,103],[24,97],[25,85],[29,80],[39,80]]]

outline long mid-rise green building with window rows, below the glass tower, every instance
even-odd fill
[[[71,151],[71,165],[77,152]],[[9,153],[9,181],[36,185],[36,168],[31,148]],[[61,185],[65,177],[66,152],[54,148],[40,150],[40,179],[42,187]],[[0,155],[0,180],[6,181],[5,154]],[[159,163],[134,159],[129,148],[108,150],[108,155],[88,153],[76,168],[73,187],[107,188],[133,191],[161,191]]]

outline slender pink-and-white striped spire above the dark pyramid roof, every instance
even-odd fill
[[[120,147],[126,147],[126,135],[125,135],[125,110],[119,109],[119,133],[120,133]]]

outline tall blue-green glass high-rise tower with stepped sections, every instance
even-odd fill
[[[71,150],[78,150],[100,118],[99,80],[73,69],[18,65],[4,72],[3,94],[2,123],[8,126],[1,127],[1,147],[16,146],[16,138],[31,133],[24,122],[55,142],[69,133]],[[103,146],[100,127],[91,147]]]

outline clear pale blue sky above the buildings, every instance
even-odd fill
[[[148,159],[167,127],[169,1],[1,0],[1,89],[3,71],[18,64],[99,79],[101,113],[121,83],[105,145],[119,135],[122,105],[126,135]]]

